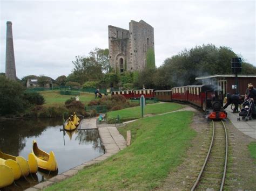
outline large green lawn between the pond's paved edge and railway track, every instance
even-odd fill
[[[147,117],[120,132],[132,132],[132,144],[106,161],[89,166],[46,190],[156,189],[183,161],[196,132],[190,128],[193,112],[180,111]]]

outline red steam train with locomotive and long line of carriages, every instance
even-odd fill
[[[171,90],[127,90],[113,91],[113,95],[123,95],[126,98],[157,98],[159,101],[179,101],[196,105],[203,109],[209,119],[225,119],[227,113],[223,109],[223,92],[217,90],[212,84],[199,86],[174,87]]]

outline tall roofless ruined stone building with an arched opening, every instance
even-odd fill
[[[144,69],[149,48],[154,52],[154,28],[143,20],[131,20],[129,30],[109,26],[109,62],[115,71]]]

